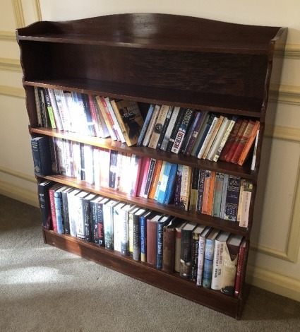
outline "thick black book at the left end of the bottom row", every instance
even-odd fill
[[[46,180],[37,184],[37,194],[39,198],[39,206],[42,215],[42,227],[45,230],[51,229],[51,208],[49,201],[49,188],[54,182]]]

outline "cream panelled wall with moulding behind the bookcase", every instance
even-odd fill
[[[300,2],[298,0],[2,0],[0,4],[0,193],[37,206],[28,119],[13,30],[35,20],[71,20],[112,13],[176,13],[253,25],[287,26],[280,102],[275,126],[267,126],[271,148],[265,192],[258,192],[247,280],[300,301]],[[267,160],[265,160],[267,162]],[[263,163],[265,163],[263,161]],[[265,198],[264,198],[265,197]],[[42,239],[41,239],[42,240]]]

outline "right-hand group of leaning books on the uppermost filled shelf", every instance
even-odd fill
[[[138,146],[243,165],[259,121],[168,105],[150,105]]]

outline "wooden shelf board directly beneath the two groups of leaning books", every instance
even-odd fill
[[[78,134],[73,134],[67,131],[59,131],[52,128],[31,128],[30,131],[35,134],[42,134],[47,136],[54,136],[59,138],[65,138],[70,141],[77,141],[80,143],[89,144],[91,146],[99,146],[100,148],[108,148],[112,150],[117,150],[124,153],[132,153],[140,155],[143,157],[155,158],[158,160],[165,160],[175,164],[188,165],[191,167],[202,168],[205,170],[217,170],[217,172],[223,172],[226,174],[235,175],[237,177],[242,177],[244,179],[251,179],[253,183],[256,183],[257,172],[251,170],[250,162],[248,160],[244,165],[236,165],[230,162],[212,162],[210,160],[198,159],[193,156],[186,156],[183,153],[166,153],[163,150],[152,149],[143,146],[127,146],[126,143],[121,143],[118,141],[112,141],[111,138],[97,138],[91,136],[83,136]]]

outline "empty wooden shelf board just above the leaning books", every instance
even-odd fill
[[[72,90],[79,93],[104,95],[159,105],[189,107],[210,112],[255,117],[257,119],[261,117],[263,105],[263,100],[254,97],[240,97],[221,93],[196,93],[193,90],[157,88],[80,78],[25,81],[24,85]]]

